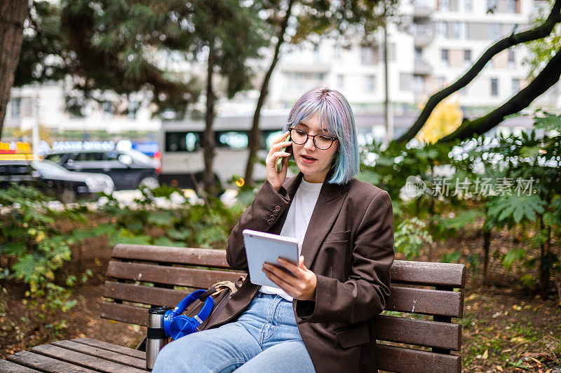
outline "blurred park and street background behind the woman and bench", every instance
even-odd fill
[[[396,259],[467,267],[464,370],[559,372],[560,46],[561,0],[2,1],[0,357],[134,346],[88,314],[111,248],[224,248],[324,86]]]

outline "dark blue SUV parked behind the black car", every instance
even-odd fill
[[[136,189],[140,185],[156,188],[160,184],[158,162],[134,149],[58,152],[45,158],[69,171],[108,175],[113,179],[115,190]]]

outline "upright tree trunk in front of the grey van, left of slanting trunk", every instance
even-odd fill
[[[203,132],[203,155],[205,158],[205,169],[203,171],[203,183],[205,184],[205,192],[214,195],[215,177],[213,164],[215,158],[215,134],[212,130],[212,123],[215,120],[215,92],[212,89],[212,70],[215,66],[215,50],[214,45],[208,45],[208,66],[206,78],[206,113],[205,113],[205,131]]]

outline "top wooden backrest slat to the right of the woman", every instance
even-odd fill
[[[394,260],[391,266],[391,281],[464,288],[466,285],[466,266],[455,263]]]

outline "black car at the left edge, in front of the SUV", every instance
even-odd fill
[[[97,199],[97,192],[110,194],[114,190],[107,175],[68,171],[49,160],[0,160],[0,187],[10,183],[32,185],[65,203]]]

